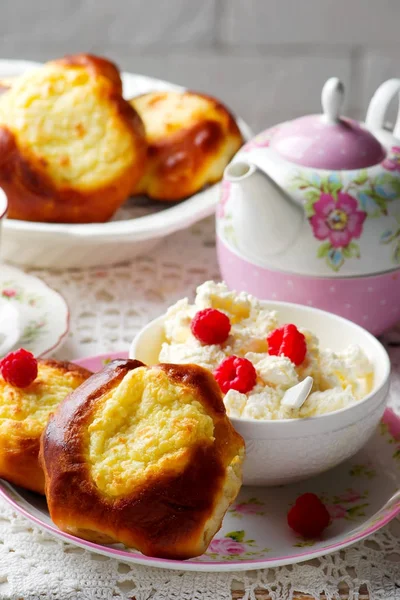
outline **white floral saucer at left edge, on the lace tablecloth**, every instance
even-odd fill
[[[41,279],[15,267],[0,265],[0,314],[7,304],[17,331],[8,323],[3,326],[0,323],[0,345],[4,342],[0,356],[17,348],[25,348],[36,357],[46,356],[65,340],[69,311],[64,298]]]

